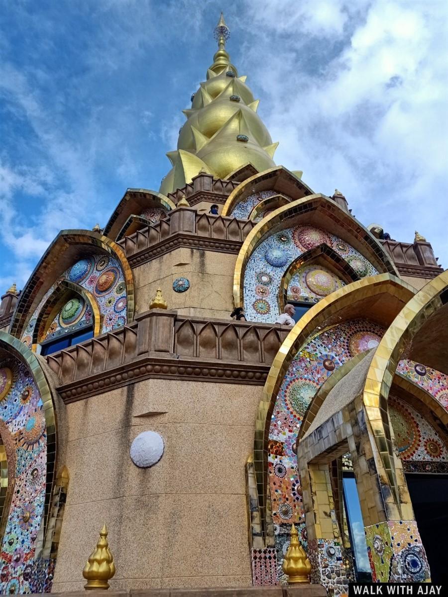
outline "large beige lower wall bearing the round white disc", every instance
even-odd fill
[[[70,483],[53,592],[82,589],[104,523],[113,589],[250,585],[244,465],[261,393],[155,379],[67,405]],[[165,441],[151,469],[129,456],[145,430]]]

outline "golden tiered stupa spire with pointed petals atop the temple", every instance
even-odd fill
[[[229,29],[222,13],[214,30],[218,51],[207,70],[207,80],[192,96],[191,109],[183,110],[187,121],[179,131],[177,150],[168,152],[173,168],[162,180],[160,192],[167,195],[191,182],[201,170],[225,179],[245,164],[261,172],[275,166],[272,159],[278,143],[257,115],[246,76],[230,61],[225,49]]]

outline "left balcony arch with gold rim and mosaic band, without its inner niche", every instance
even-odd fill
[[[10,324],[13,336],[32,346],[42,306],[64,280],[94,295],[103,316],[100,333],[133,320],[133,273],[122,248],[96,232],[62,230],[45,251],[20,295]],[[122,300],[116,305],[118,299]]]

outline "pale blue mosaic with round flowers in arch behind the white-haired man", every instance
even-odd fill
[[[243,204],[237,205],[237,208],[241,205]],[[260,243],[248,260],[244,272],[244,310],[248,320],[275,322],[280,314],[278,293],[281,279],[290,265],[302,253],[323,242],[350,263],[360,277],[373,276],[378,273],[375,267],[358,251],[325,230],[308,225],[281,230]],[[288,295],[291,298],[294,298],[295,295],[297,298],[303,296],[320,300],[343,284],[342,280],[324,267],[302,267],[291,279]],[[254,306],[259,297],[257,288],[259,290],[260,285],[270,287],[269,296],[263,297],[269,304],[269,309],[257,310]]]

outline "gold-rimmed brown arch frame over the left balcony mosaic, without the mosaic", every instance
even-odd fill
[[[22,337],[45,293],[65,270],[78,260],[89,257],[93,251],[116,259],[121,267],[126,287],[126,319],[134,317],[134,279],[131,267],[122,248],[107,236],[90,230],[61,230],[45,251],[27,281],[11,319],[10,333]]]

